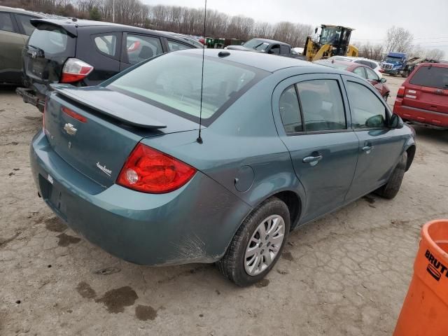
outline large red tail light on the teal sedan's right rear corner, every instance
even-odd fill
[[[170,155],[138,144],[118,175],[120,186],[144,193],[162,194],[181,188],[196,169]]]

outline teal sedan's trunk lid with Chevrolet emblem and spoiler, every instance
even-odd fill
[[[106,87],[53,85],[44,132],[53,151],[105,188],[146,137],[197,129],[197,123]]]

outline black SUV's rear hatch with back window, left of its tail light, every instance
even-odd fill
[[[50,83],[59,83],[67,58],[75,56],[76,34],[51,22],[38,21],[23,50],[24,71],[36,93],[44,96]],[[73,28],[76,33],[76,28]]]

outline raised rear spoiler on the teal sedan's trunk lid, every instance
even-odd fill
[[[99,98],[98,90],[104,91],[107,94],[117,94],[117,92],[106,89],[106,87],[85,87],[84,90],[79,94],[78,87],[70,84],[50,84],[50,87],[55,90],[58,94],[62,94],[74,102],[88,106],[90,109],[109,116],[113,119],[119,120],[120,122],[148,129],[160,129],[166,128],[167,125],[160,123],[158,120],[147,116],[139,111],[134,111],[132,109],[127,109],[125,106],[117,106],[113,109],[113,106],[107,97]]]

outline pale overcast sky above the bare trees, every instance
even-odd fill
[[[141,0],[149,5],[200,8],[204,0]],[[254,20],[352,27],[351,41],[379,43],[393,25],[414,34],[414,43],[444,50],[448,58],[448,0],[208,0],[207,7]]]

